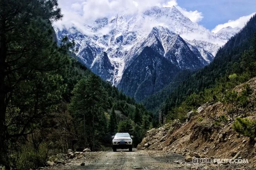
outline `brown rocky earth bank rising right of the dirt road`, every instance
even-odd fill
[[[247,83],[255,95],[256,77]],[[235,90],[240,93],[242,87],[243,84]],[[207,103],[196,112],[188,113],[190,120],[186,123],[174,121],[173,124],[167,123],[158,129],[149,130],[137,149],[163,150],[201,158],[231,159],[238,154],[237,158],[249,159],[249,164],[254,167],[256,141],[238,134],[232,128],[234,122],[228,114],[229,107],[221,102]],[[216,119],[221,115],[225,115],[228,122],[215,125]],[[243,116],[243,113],[239,113],[238,116]],[[256,109],[249,112],[247,117],[256,120]]]

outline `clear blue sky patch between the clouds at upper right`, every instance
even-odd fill
[[[204,18],[198,23],[210,30],[256,12],[256,0],[177,0],[177,3],[187,11],[201,12]]]

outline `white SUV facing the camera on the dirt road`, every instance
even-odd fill
[[[116,149],[129,149],[130,152],[133,151],[133,136],[130,136],[128,133],[117,133],[112,138],[114,152],[116,152]]]

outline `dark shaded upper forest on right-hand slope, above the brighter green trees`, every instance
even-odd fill
[[[247,25],[235,36],[233,36],[222,48],[219,49],[215,59],[203,69],[191,73],[186,79],[180,83],[171,83],[164,89],[165,92],[159,92],[153,96],[146,98],[143,103],[146,108],[157,110],[160,104],[154,101],[164,101],[161,104],[162,113],[167,114],[168,109],[173,106],[178,106],[185,97],[192,93],[199,93],[205,88],[215,87],[216,82],[223,79],[228,79],[228,75],[236,72],[245,72],[243,63],[244,57],[241,57],[245,50],[252,48],[252,37],[256,32],[256,16],[254,15],[247,23]],[[249,59],[251,60],[251,59]],[[233,65],[236,64],[236,65]],[[233,66],[232,66],[233,65]],[[235,67],[234,67],[235,66]],[[252,66],[250,66],[252,67]],[[253,70],[251,71],[253,72]],[[179,76],[179,75],[178,75]],[[175,80],[179,80],[179,77]],[[162,93],[168,93],[166,98]],[[155,106],[152,106],[152,102]],[[165,107],[165,109],[164,109]]]

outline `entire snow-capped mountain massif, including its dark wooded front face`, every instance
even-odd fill
[[[211,33],[198,23],[192,22],[174,6],[171,8],[156,6],[134,15],[116,14],[110,18],[100,18],[84,25],[83,29],[63,26],[63,28],[55,27],[55,30],[59,40],[65,35],[75,40],[78,48],[76,55],[79,61],[94,73],[112,82],[113,85],[131,96],[135,94],[147,96],[164,87],[172,77],[166,77],[167,81],[163,81],[158,74],[159,78],[155,80],[161,81],[153,81],[154,90],[151,87],[148,88],[151,90],[141,94],[137,90],[139,85],[147,80],[145,77],[149,74],[159,73],[158,70],[166,74],[171,72],[165,64],[160,67],[161,64],[154,65],[153,63],[165,61],[164,63],[171,64],[170,66],[175,70],[203,67],[213,60],[218,48],[239,29],[231,31],[227,28],[216,34]],[[141,63],[141,68],[139,67],[138,63],[142,62],[141,59],[149,55],[145,49],[158,54],[157,59],[145,61],[148,66],[156,66],[156,68],[149,69],[150,67],[147,67],[145,63]],[[141,75],[132,73],[132,69],[141,69]],[[148,70],[148,73],[145,73],[145,70]],[[124,73],[126,76],[123,76]],[[140,80],[135,81],[137,77],[131,75],[140,76]],[[129,83],[127,82],[136,82],[137,84],[130,84],[130,86],[137,88],[128,92],[126,88],[129,88]],[[140,99],[141,97],[138,97],[138,100]]]

